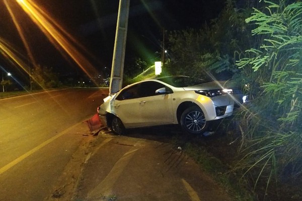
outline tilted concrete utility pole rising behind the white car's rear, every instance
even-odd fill
[[[122,88],[130,0],[120,0],[113,50],[109,93]]]

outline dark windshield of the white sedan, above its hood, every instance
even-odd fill
[[[207,82],[204,79],[192,78],[187,76],[162,77],[159,78],[158,80],[163,81],[175,87],[194,86],[197,84],[202,84],[204,82]]]

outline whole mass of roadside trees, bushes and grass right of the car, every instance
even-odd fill
[[[217,156],[226,167],[219,177],[254,193],[239,193],[238,200],[302,197],[301,36],[302,3],[289,0],[229,0],[199,30],[169,32],[163,75],[232,78],[249,95],[249,103],[217,128],[224,135],[211,145],[224,153],[186,145],[199,162],[205,152]]]

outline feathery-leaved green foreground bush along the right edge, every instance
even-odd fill
[[[253,35],[262,45],[246,51],[237,62],[245,77],[253,77],[256,98],[243,108],[242,159],[236,164],[252,176],[255,188],[266,181],[296,181],[302,175],[302,3],[268,5],[254,13]]]

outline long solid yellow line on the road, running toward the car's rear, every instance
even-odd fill
[[[5,165],[4,167],[2,167],[0,169],[0,175],[3,174],[4,172],[6,172],[7,170],[9,170],[10,168],[12,168],[13,166],[17,165],[18,163],[20,163],[22,160],[24,160],[25,158],[29,157],[30,155],[32,155],[33,153],[35,153],[36,151],[38,151],[39,149],[45,147],[46,145],[48,145],[49,143],[51,143],[52,141],[54,141],[55,139],[57,139],[58,137],[64,135],[65,133],[69,132],[70,130],[74,129],[75,127],[79,126],[81,123],[75,124],[71,127],[69,127],[68,129],[62,131],[61,133],[58,133],[57,135],[53,136],[52,138],[46,140],[45,142],[43,142],[42,144],[36,146],[35,148],[33,148],[32,150],[28,151],[27,153],[21,155],[19,158],[16,158],[15,160],[13,160],[12,162],[10,162],[9,164]]]

